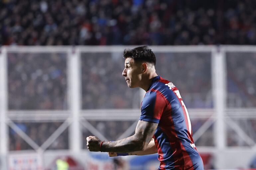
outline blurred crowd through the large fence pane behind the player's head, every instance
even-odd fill
[[[210,53],[156,53],[156,72],[180,90],[188,108],[211,108]],[[139,89],[127,87],[122,53],[82,53],[83,109],[140,108]],[[100,68],[100,69],[99,69]]]

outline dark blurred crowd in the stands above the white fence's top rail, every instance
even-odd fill
[[[3,45],[255,44],[253,0],[3,0]]]

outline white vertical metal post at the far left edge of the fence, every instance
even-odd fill
[[[2,47],[0,53],[0,157],[6,157],[8,153],[7,105],[7,51]],[[2,167],[6,167],[6,161],[1,163]]]

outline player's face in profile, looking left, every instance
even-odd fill
[[[126,58],[124,61],[124,71],[122,75],[125,77],[128,87],[139,87],[141,83],[142,69],[139,63],[135,63],[133,58]]]

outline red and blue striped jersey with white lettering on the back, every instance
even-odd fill
[[[187,108],[173,83],[160,76],[153,79],[141,103],[140,120],[158,123],[153,138],[159,170],[203,170]]]

